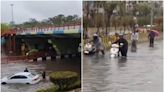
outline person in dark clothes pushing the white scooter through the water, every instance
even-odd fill
[[[114,42],[119,44],[119,51],[123,57],[127,57],[128,41],[124,38],[124,35],[120,35],[120,38]]]

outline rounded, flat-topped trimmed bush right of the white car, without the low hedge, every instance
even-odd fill
[[[49,77],[50,81],[59,87],[59,90],[67,89],[78,80],[78,74],[71,71],[53,72]]]

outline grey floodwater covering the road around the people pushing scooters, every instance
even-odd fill
[[[130,47],[130,46],[129,46]],[[84,56],[83,92],[162,92],[163,43],[138,44],[127,60],[105,56]]]

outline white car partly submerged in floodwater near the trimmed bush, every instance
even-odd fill
[[[40,80],[41,80],[40,75],[35,75],[30,72],[20,72],[8,77],[4,77],[1,80],[1,84],[7,84],[7,83],[36,84]]]

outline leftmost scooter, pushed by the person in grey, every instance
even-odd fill
[[[96,48],[94,45],[91,43],[86,43],[84,46],[84,54],[89,55],[89,54],[94,54],[96,52]]]

